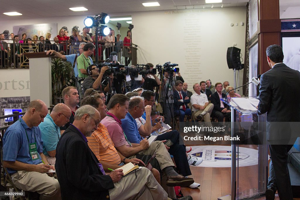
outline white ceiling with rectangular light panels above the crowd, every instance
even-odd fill
[[[160,6],[144,7],[142,5],[142,3],[144,2],[153,1],[155,0],[13,0],[5,1],[5,3],[3,3],[0,7],[0,20],[63,17],[76,15],[94,16],[95,14],[101,12],[108,13],[112,16],[119,16],[118,13],[202,8],[203,5],[205,7],[211,7],[211,4],[205,4],[205,0],[157,0]],[[214,4],[214,7],[221,7],[222,4],[223,7],[246,6],[248,1],[249,0],[223,0],[223,3]],[[68,9],[69,7],[81,6],[87,8],[88,10],[74,12]],[[292,8],[295,8],[297,6],[300,6],[299,0],[280,0],[280,16],[291,16],[289,10],[295,10]],[[3,14],[4,12],[13,11],[22,13],[23,15],[7,16]],[[298,9],[296,9],[295,12],[299,13]],[[124,25],[127,25],[126,22]]]

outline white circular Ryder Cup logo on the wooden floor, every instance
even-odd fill
[[[239,147],[238,151],[235,158],[240,167],[258,164],[256,149]],[[202,157],[203,162],[199,167],[231,167],[231,146],[192,146],[189,154]]]

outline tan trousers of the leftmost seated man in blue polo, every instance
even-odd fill
[[[20,190],[39,193],[40,199],[61,199],[58,180],[46,173],[17,171],[11,179]]]

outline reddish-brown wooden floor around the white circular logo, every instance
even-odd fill
[[[249,146],[248,146],[249,148]],[[256,148],[255,145],[252,148]],[[190,195],[193,200],[217,200],[218,197],[231,193],[231,168],[230,167],[198,167],[190,166],[192,177],[199,188],[182,187],[184,196]],[[239,191],[257,188],[258,165],[239,167]],[[263,200],[265,198],[259,198]],[[279,200],[279,197],[275,198]],[[300,200],[300,198],[294,198]]]

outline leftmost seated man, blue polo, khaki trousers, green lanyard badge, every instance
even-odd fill
[[[3,166],[13,184],[20,190],[37,192],[40,199],[61,199],[60,186],[43,154],[43,141],[38,125],[48,113],[41,100],[29,103],[25,115],[10,125],[3,136]],[[30,149],[29,149],[30,148]]]

